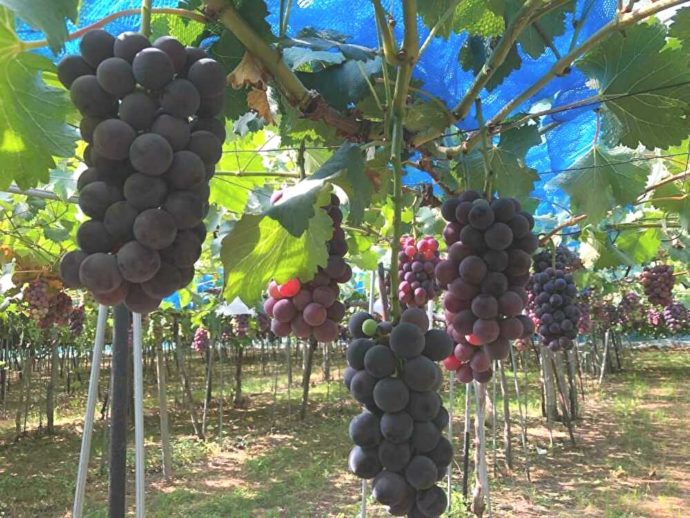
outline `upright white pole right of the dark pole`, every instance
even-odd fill
[[[134,335],[134,446],[136,452],[136,518],[146,516],[144,480],[144,376],[142,372],[141,314],[133,314]]]

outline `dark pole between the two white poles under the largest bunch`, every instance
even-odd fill
[[[113,395],[110,425],[108,518],[124,518],[127,485],[127,356],[129,311],[124,304],[113,310]]]

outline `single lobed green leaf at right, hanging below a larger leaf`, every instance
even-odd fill
[[[575,213],[598,222],[614,207],[634,202],[644,189],[649,167],[646,162],[631,162],[632,158],[629,151],[595,146],[555,182],[570,195]]]

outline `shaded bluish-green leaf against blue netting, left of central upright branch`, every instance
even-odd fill
[[[297,76],[304,86],[318,90],[328,104],[345,110],[364,97],[369,91],[368,77],[380,71],[381,59],[376,58],[365,62],[348,60],[320,72],[297,72]]]

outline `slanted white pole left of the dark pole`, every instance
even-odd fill
[[[74,507],[72,516],[81,518],[84,509],[84,494],[86,492],[86,478],[89,473],[89,457],[91,456],[91,437],[93,435],[93,418],[96,413],[96,398],[98,394],[98,376],[101,372],[101,357],[105,342],[105,322],[108,318],[108,308],[98,306],[96,320],[96,339],[93,344],[91,358],[91,377],[89,378],[89,395],[86,399],[86,415],[84,416],[84,431],[81,436],[81,452],[79,453],[79,470],[77,472],[77,487],[74,492]]]

